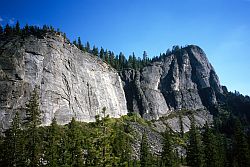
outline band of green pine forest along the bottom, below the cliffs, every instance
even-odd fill
[[[166,130],[162,134],[163,148],[160,156],[151,153],[147,134],[143,133],[140,159],[136,160],[131,147],[135,134],[129,122],[149,126],[142,118],[132,114],[121,119],[111,119],[106,115],[106,108],[103,108],[101,116],[96,116],[96,122],[80,123],[72,118],[68,125],[62,126],[53,119],[50,126],[39,127],[38,104],[38,95],[34,91],[27,104],[29,119],[20,121],[17,114],[10,129],[0,139],[1,166],[174,167],[180,164],[178,158],[181,158],[175,149],[182,145],[180,140],[186,139],[186,161],[189,166],[248,166],[246,133],[237,119],[233,119],[234,131],[230,138],[208,124],[201,133],[194,121],[191,121],[188,138],[187,133],[182,137],[180,133]],[[185,160],[182,164],[185,165]]]

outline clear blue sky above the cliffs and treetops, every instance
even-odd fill
[[[1,0],[0,24],[53,25],[126,55],[199,45],[230,91],[250,95],[250,0]]]

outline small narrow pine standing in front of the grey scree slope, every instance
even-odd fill
[[[141,167],[149,167],[151,164],[148,139],[145,133],[142,134],[141,148],[140,148],[140,164]]]

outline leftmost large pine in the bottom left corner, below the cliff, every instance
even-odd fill
[[[18,112],[11,123],[11,126],[5,132],[4,140],[4,166],[24,166],[24,144],[21,123]]]

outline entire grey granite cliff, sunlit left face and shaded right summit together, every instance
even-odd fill
[[[148,120],[193,110],[202,125],[211,120],[209,111],[223,97],[215,70],[198,46],[179,49],[141,70],[125,69],[118,74],[60,34],[0,37],[0,129],[8,127],[16,111],[24,116],[35,86],[44,125],[53,117],[60,124],[72,117],[94,121],[103,107],[111,117],[130,111]],[[188,130],[189,117],[182,118]],[[179,118],[165,123],[180,130]],[[155,126],[161,131],[165,123],[156,121]]]

